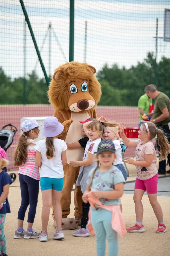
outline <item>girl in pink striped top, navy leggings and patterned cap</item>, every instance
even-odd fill
[[[39,128],[36,120],[25,120],[21,124],[23,134],[18,140],[18,145],[14,153],[14,165],[19,166],[19,183],[21,188],[21,206],[18,211],[18,227],[14,238],[38,238],[40,233],[32,229],[39,193],[39,167],[35,165],[35,145],[34,139],[38,138]],[[23,229],[23,222],[28,205],[28,227]]]

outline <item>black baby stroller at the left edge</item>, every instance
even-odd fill
[[[7,126],[10,126],[11,129],[6,129]],[[13,142],[14,135],[18,131],[17,127],[15,127],[12,124],[7,124],[2,127],[0,130],[0,146],[3,148],[5,151],[11,146]],[[5,172],[7,172],[6,167],[3,168]],[[10,173],[10,177],[12,181],[14,182],[16,180],[16,174],[15,173]]]

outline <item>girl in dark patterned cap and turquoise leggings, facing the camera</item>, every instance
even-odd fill
[[[114,143],[111,140],[102,140],[97,150],[97,167],[89,172],[88,185],[82,197],[84,203],[89,202],[91,205],[89,219],[96,234],[97,256],[105,255],[106,237],[109,244],[108,255],[117,256],[117,232],[121,236],[126,233],[120,211],[120,197],[123,195],[125,179],[122,172],[113,166],[115,158]],[[114,217],[118,220],[117,227],[114,226]],[[89,223],[87,228],[88,226]]]

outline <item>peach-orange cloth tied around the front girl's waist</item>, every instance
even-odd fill
[[[90,203],[92,208],[95,208],[95,209],[102,208],[112,212],[112,220],[111,220],[112,228],[120,235],[123,241],[123,236],[127,233],[127,231],[126,231],[123,215],[120,210],[120,205],[103,205],[100,202],[100,200],[94,196],[92,191],[90,191],[86,195],[88,197],[88,202]],[[86,227],[90,232],[90,234],[95,235],[95,231],[91,223],[91,211],[89,211],[88,215],[89,215],[88,216],[89,220]]]

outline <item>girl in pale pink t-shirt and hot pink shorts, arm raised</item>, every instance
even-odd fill
[[[153,123],[148,122],[140,126],[138,131],[139,140],[129,140],[124,134],[124,124],[120,126],[120,134],[124,144],[128,147],[136,147],[136,161],[126,158],[124,161],[136,165],[137,178],[134,189],[134,203],[136,213],[136,224],[127,228],[128,232],[144,232],[143,226],[143,205],[142,197],[147,191],[150,204],[158,220],[158,229],[156,233],[165,233],[166,227],[163,222],[163,213],[160,204],[157,201],[158,171],[156,167],[156,151],[152,139],[157,135],[158,145],[160,145],[160,160],[166,158],[170,152],[170,145],[161,129],[158,129]]]

